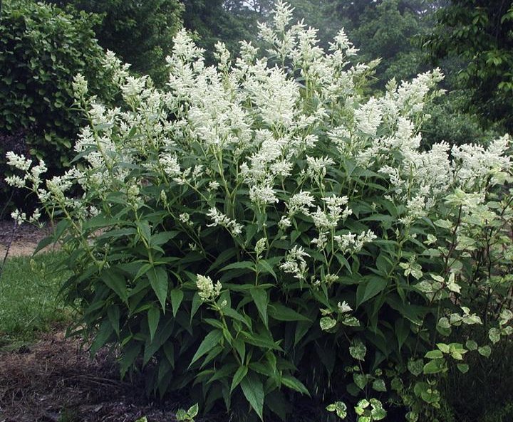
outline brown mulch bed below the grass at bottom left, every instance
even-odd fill
[[[112,354],[91,359],[62,329],[0,353],[0,422],[172,422],[187,404],[148,399],[142,377],[121,381]]]

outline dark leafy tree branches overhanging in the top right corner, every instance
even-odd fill
[[[463,60],[456,83],[468,90],[467,110],[513,129],[513,1],[452,0],[424,45],[433,63]]]

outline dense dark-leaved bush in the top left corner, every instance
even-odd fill
[[[31,154],[45,159],[52,172],[71,159],[73,140],[84,122],[83,112],[73,107],[73,76],[86,75],[91,94],[104,101],[115,93],[91,19],[33,1],[3,2],[0,132],[23,129]]]

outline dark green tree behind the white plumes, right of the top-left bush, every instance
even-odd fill
[[[114,51],[131,69],[150,75],[157,85],[167,81],[165,57],[182,26],[184,6],[178,0],[51,0],[61,7],[98,15],[93,29],[98,43]],[[68,10],[73,10],[68,9]]]

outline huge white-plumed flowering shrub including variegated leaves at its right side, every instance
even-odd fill
[[[421,152],[440,72],[365,99],[372,68],[349,63],[343,31],[325,53],[290,16],[278,3],[260,27],[268,58],[219,44],[217,67],[180,32],[165,91],[108,56],[125,106],[78,75],[76,167],[43,183],[43,163],[8,154],[9,181],[61,220],[92,352],[117,345],[153,391],[261,419],[286,418],[297,391],[340,418],[395,404],[432,420],[448,368],[512,332],[509,137]]]

